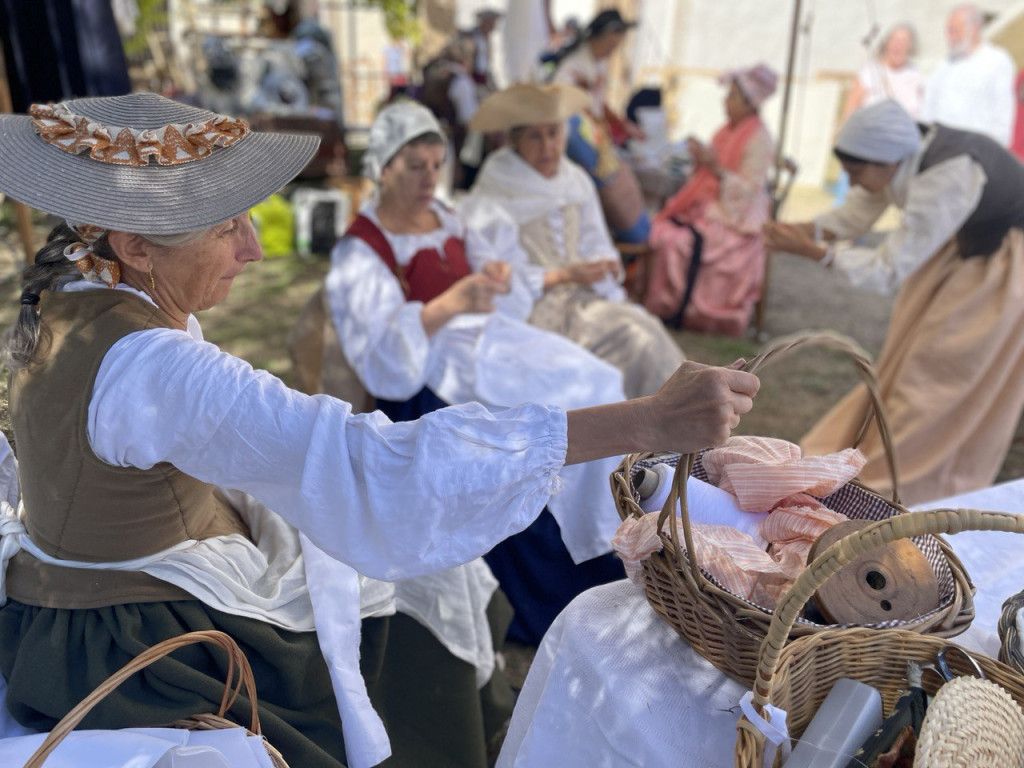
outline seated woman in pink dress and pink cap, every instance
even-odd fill
[[[758,65],[721,80],[728,121],[711,146],[690,141],[696,170],[654,218],[643,303],[677,328],[740,336],[764,283],[774,143],[758,111],[776,76]]]

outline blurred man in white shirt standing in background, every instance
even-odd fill
[[[1015,116],[1014,62],[1002,48],[982,42],[981,26],[975,5],[958,5],[949,13],[949,55],[928,80],[922,117],[987,134],[1009,146]]]

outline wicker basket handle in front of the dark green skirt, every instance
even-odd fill
[[[220,730],[224,728],[238,728],[239,724],[226,720],[224,715],[230,709],[231,705],[234,703],[234,699],[238,698],[242,688],[245,687],[246,695],[249,697],[249,701],[252,705],[252,720],[249,724],[248,732],[250,735],[262,736],[263,734],[260,730],[259,724],[259,712],[257,710],[256,681],[253,678],[253,671],[249,666],[249,659],[246,658],[242,649],[239,648],[238,644],[230,638],[230,636],[224,634],[223,632],[216,632],[212,630],[189,632],[179,637],[165,640],[162,643],[157,643],[152,648],[139,653],[135,656],[135,658],[111,675],[103,683],[97,686],[92,693],[83,698],[74,710],[65,715],[63,718],[60,719],[59,723],[53,726],[53,730],[49,732],[42,744],[39,745],[39,749],[33,753],[31,758],[29,758],[29,761],[25,764],[25,768],[40,768],[50,753],[57,748],[57,745],[65,739],[65,736],[75,730],[75,727],[82,722],[82,719],[89,714],[92,708],[129,677],[134,675],[139,670],[148,667],[154,662],[163,658],[171,651],[194,643],[211,643],[227,651],[227,680],[224,683],[224,695],[220,699],[220,709],[216,715],[194,715],[193,717],[185,718],[184,720],[178,720],[171,723],[170,727],[184,728],[187,730]],[[236,669],[238,670],[237,680],[234,679]],[[273,764],[274,768],[288,768],[288,763],[285,762],[281,753],[273,749],[273,746],[271,746],[265,738],[263,739],[263,746],[266,749],[267,755],[269,756],[270,762]]]

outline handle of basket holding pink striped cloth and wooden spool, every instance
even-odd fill
[[[766,366],[778,361],[790,352],[808,346],[837,349],[846,354],[853,361],[861,379],[863,379],[864,384],[867,386],[867,392],[873,406],[876,423],[879,427],[879,434],[882,437],[882,444],[885,447],[886,462],[889,465],[889,473],[892,476],[893,504],[899,506],[899,473],[896,467],[896,453],[893,451],[892,435],[889,430],[889,420],[886,417],[885,406],[882,402],[882,393],[879,389],[878,379],[874,376],[874,370],[871,368],[870,357],[857,342],[833,331],[802,332],[790,336],[780,336],[762,347],[758,355],[751,359],[743,367],[743,370],[756,374]],[[863,439],[866,429],[867,422],[865,421],[854,445]],[[683,556],[683,550],[679,544],[677,516],[673,512],[676,510],[676,505],[678,504],[681,510],[680,516],[683,521],[683,541],[686,544],[686,551],[694,552],[689,506],[686,501],[686,483],[689,481],[690,472],[693,470],[693,463],[696,461],[696,454],[685,454],[680,457],[679,463],[676,464],[675,476],[672,479],[672,488],[669,492],[669,497],[665,500],[665,506],[662,508],[662,513],[657,518],[658,530],[663,529],[666,521],[669,522],[669,538],[675,550],[676,562],[679,564],[680,570],[686,574],[686,579],[692,587],[703,585],[707,582],[707,578],[700,572],[700,565],[697,563],[695,557],[685,558]],[[630,476],[629,469],[627,469],[627,476]]]

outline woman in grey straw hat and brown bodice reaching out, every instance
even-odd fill
[[[132,94],[0,116],[0,189],[68,222],[25,271],[10,342],[24,507],[0,519],[0,673],[33,728],[144,647],[220,629],[292,765],[376,764],[389,746],[358,667],[357,571],[470,561],[528,525],[567,465],[721,440],[757,388],[691,366],[603,409],[353,416],[204,342],[195,318],[261,258],[249,209],[315,138]],[[490,294],[458,296],[480,308]],[[376,631],[362,624],[366,664]],[[221,660],[162,662],[83,725],[213,710]]]

